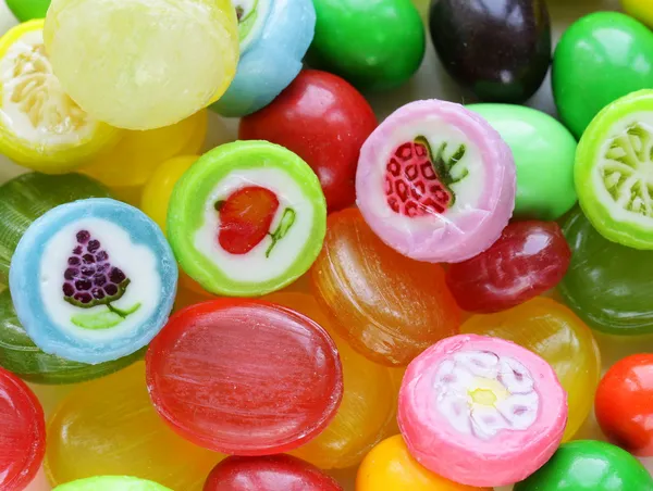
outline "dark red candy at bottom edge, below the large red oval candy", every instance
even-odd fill
[[[211,470],[204,491],[342,491],[313,465],[289,455],[225,458]]]

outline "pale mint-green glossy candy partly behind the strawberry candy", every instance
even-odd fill
[[[576,204],[576,140],[541,111],[513,104],[471,104],[508,143],[517,166],[515,216],[554,221]]]

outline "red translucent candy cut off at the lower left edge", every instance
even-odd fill
[[[0,489],[25,489],[45,452],[46,420],[38,399],[20,378],[0,368]]]

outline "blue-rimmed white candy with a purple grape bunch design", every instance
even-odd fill
[[[159,227],[110,199],[63,204],[21,238],[9,286],[46,353],[97,364],[149,343],[168,320],[177,268]]]

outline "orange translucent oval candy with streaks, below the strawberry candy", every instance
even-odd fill
[[[329,216],[311,286],[337,332],[377,363],[407,365],[458,332],[460,312],[442,267],[385,246],[357,210]]]

